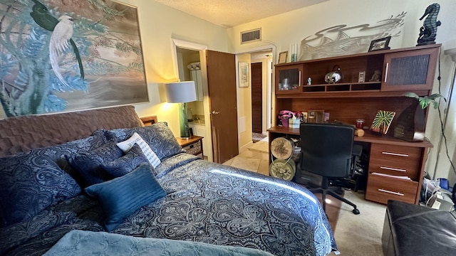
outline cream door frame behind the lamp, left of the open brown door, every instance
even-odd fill
[[[202,90],[203,90],[203,108],[204,108],[204,129],[206,131],[206,137],[204,139],[209,140],[210,149],[204,149],[204,154],[207,155],[207,161],[214,161],[214,155],[212,151],[212,124],[211,124],[211,117],[210,117],[210,107],[209,107],[209,92],[207,90],[207,63],[206,63],[206,50],[208,49],[207,46],[193,43],[189,41],[182,41],[179,39],[172,38],[172,55],[175,67],[175,76],[179,78],[179,65],[177,63],[177,50],[176,48],[187,48],[189,50],[199,51],[199,63],[201,68],[201,76],[202,76]]]

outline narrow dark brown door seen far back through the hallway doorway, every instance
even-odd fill
[[[263,132],[263,65],[252,63],[252,132]]]

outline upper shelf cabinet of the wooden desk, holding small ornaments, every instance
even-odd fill
[[[432,90],[439,47],[377,50],[279,64],[275,66],[276,94],[283,95],[281,97],[387,97],[413,91],[428,95]],[[340,68],[343,79],[336,83],[325,82],[326,73],[336,68]],[[360,73],[363,73],[361,80]],[[309,78],[311,85],[307,84]]]

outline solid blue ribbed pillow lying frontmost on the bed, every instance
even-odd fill
[[[105,228],[114,230],[125,218],[142,206],[166,196],[157,182],[149,164],[140,164],[137,169],[111,181],[86,188],[89,196],[95,196],[105,213]]]

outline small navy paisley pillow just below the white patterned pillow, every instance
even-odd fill
[[[108,174],[117,178],[133,171],[142,163],[149,164],[149,161],[144,153],[142,153],[141,147],[138,144],[134,144],[125,156],[101,164],[101,167],[103,167]]]

